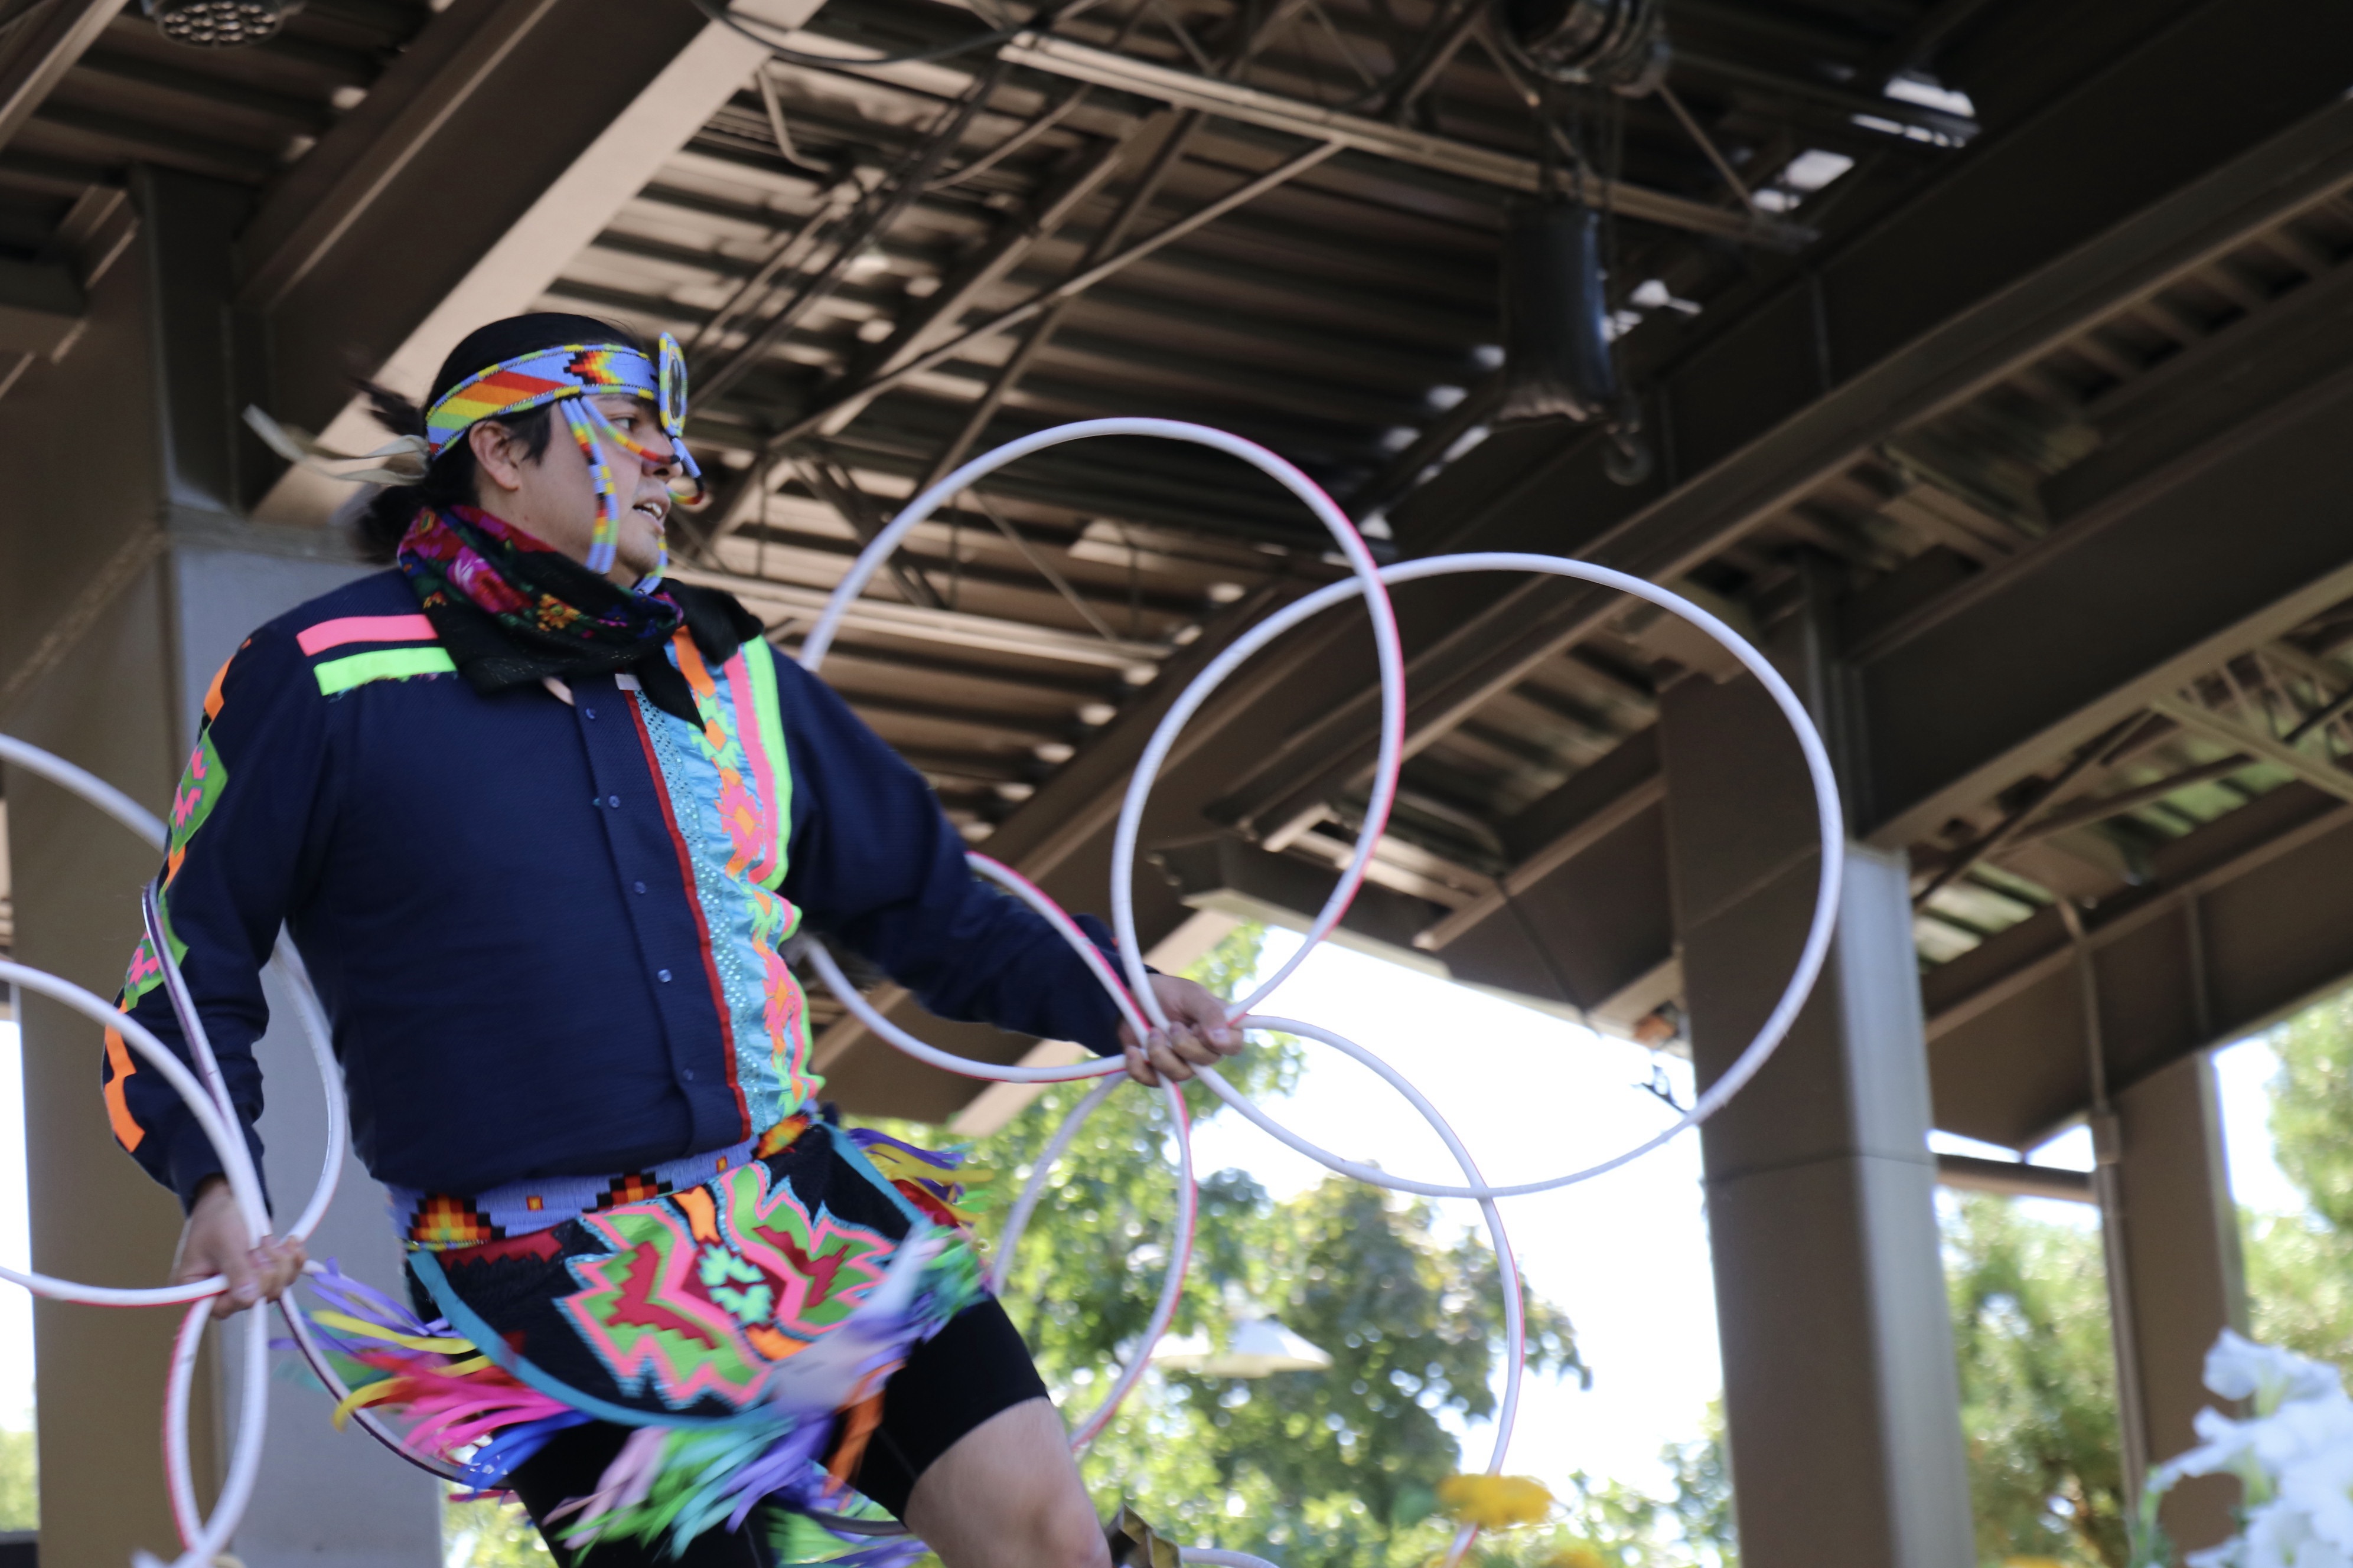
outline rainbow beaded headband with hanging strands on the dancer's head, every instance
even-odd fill
[[[591,397],[645,397],[661,414],[661,433],[671,437],[671,449],[645,447],[605,418]],[[544,404],[558,404],[565,428],[588,458],[595,477],[598,522],[588,541],[588,569],[612,571],[614,550],[621,541],[621,489],[614,482],[605,444],[612,442],[642,461],[675,461],[696,489],[704,470],[687,451],[687,357],[678,350],[678,339],[661,334],[661,360],[649,360],[621,343],[569,343],[565,348],[541,348],[518,355],[485,371],[466,376],[426,409],[426,451],[440,456],[449,442],[459,440],[485,418],[522,414]],[[661,564],[638,588],[652,588],[668,564],[664,548]]]

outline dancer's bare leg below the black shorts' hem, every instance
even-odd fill
[[[906,1523],[948,1568],[1111,1568],[1052,1401],[998,1410],[915,1481]]]

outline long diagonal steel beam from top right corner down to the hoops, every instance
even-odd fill
[[[2146,96],[2155,82],[2202,73],[2231,49],[2273,56],[2275,40],[2257,45],[2247,16],[2231,12],[2202,7],[2200,26],[2151,40],[2071,101],[1981,139],[1911,207],[1821,259],[1814,282],[1758,301],[1685,355],[1657,393],[1659,418],[1673,428],[1673,463],[1689,475],[1666,494],[1602,482],[1591,435],[1489,440],[1393,512],[1400,541],[1412,550],[1567,548],[1673,581],[1889,435],[2353,186],[2353,103],[2334,92],[2325,108],[2268,141],[2231,148],[2235,158],[2169,127],[2172,174],[2151,179],[2155,169],[2139,165],[2129,195],[2101,174],[2087,148],[2162,118]],[[2329,56],[2353,47],[2353,16],[2320,19],[2287,0],[2268,0],[2266,12],[2280,12],[2280,26],[2311,31],[2306,42]],[[2273,115],[2271,127],[2280,120]],[[2066,181],[2064,172],[2078,176]],[[2049,195],[2033,223],[2014,209],[2021,183]],[[1993,230],[2009,270],[1974,254]],[[1972,256],[1960,261],[1962,252]],[[1828,346],[1828,388],[1807,350],[1817,341]],[[1461,498],[1466,489],[1475,501]],[[1619,609],[1614,595],[1551,578],[1492,590],[1485,609],[1466,609],[1449,637],[1414,658],[1409,745],[1428,745]],[[1280,835],[1346,788],[1369,764],[1372,712],[1369,689],[1327,691],[1322,722],[1235,790],[1228,816],[1249,832]]]

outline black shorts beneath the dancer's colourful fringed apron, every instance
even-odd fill
[[[852,1472],[852,1483],[887,1507],[894,1519],[906,1519],[906,1500],[915,1481],[939,1455],[948,1453],[967,1432],[1009,1410],[1016,1403],[1045,1399],[1045,1380],[1031,1363],[1028,1347],[1005,1307],[984,1300],[965,1307],[948,1324],[915,1347],[892,1380],[882,1385],[882,1425],[866,1441],[866,1455]],[[522,1497],[534,1521],[572,1497],[595,1490],[598,1476],[621,1453],[631,1427],[591,1422],[558,1432],[555,1439],[532,1455],[508,1486]],[[558,1521],[548,1533],[548,1549],[558,1563],[569,1566],[574,1554],[558,1544],[562,1533]],[[765,1568],[765,1528],[755,1514],[744,1530],[711,1530],[694,1537],[680,1556],[668,1556],[661,1544],[607,1542],[591,1556],[595,1568]]]

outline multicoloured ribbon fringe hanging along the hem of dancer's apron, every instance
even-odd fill
[[[944,1227],[918,1227],[899,1241],[868,1300],[776,1361],[753,1408],[725,1422],[649,1422],[631,1434],[598,1490],[560,1509],[569,1519],[567,1547],[668,1537],[680,1549],[704,1530],[741,1528],[767,1502],[791,1512],[856,1502],[847,1479],[880,1420],[882,1385],[915,1345],[981,1300],[984,1286],[969,1239],[946,1227],[965,1213],[962,1182],[946,1175],[960,1157],[882,1133],[852,1138],[901,1197]],[[504,1490],[558,1432],[598,1420],[529,1387],[445,1319],[424,1321],[334,1265],[313,1284],[327,1307],[306,1316],[353,1389],[334,1410],[336,1425],[362,1406],[398,1413],[412,1422],[402,1446],[461,1467],[475,1495]],[[908,1552],[894,1540],[828,1561],[887,1568]]]

